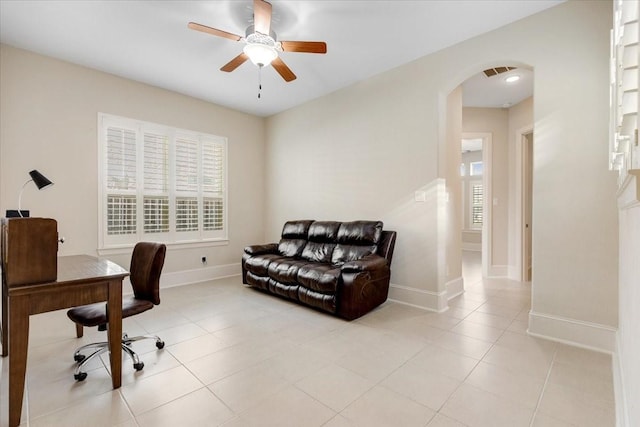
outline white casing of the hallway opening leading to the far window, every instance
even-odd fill
[[[491,183],[491,159],[493,153],[491,132],[463,132],[462,139],[482,139],[482,277],[491,277],[493,247],[493,200]],[[460,236],[462,238],[462,236]]]

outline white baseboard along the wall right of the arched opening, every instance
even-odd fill
[[[529,312],[527,333],[576,347],[612,354],[616,328],[598,323],[569,319],[545,313]]]

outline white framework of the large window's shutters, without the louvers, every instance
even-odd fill
[[[159,241],[167,245],[186,245],[187,247],[195,246],[217,246],[228,243],[228,141],[227,138],[217,135],[206,134],[203,132],[191,131],[186,129],[174,128],[171,126],[150,123],[142,120],[131,119],[121,116],[115,116],[106,113],[98,113],[98,252],[109,253],[118,249],[130,248],[141,240]],[[128,190],[127,194],[133,194],[136,197],[136,231],[131,234],[113,235],[108,234],[108,200],[110,194],[116,192],[110,191],[108,188],[108,170],[107,160],[109,158],[107,130],[109,128],[120,128],[134,132],[135,134],[135,152],[136,152],[136,188],[135,191]],[[160,135],[167,139],[167,176],[168,184],[165,191],[154,191],[145,189],[145,171],[144,171],[144,150],[145,135]],[[196,190],[189,192],[180,192],[177,190],[178,176],[176,171],[177,152],[176,146],[178,140],[195,142],[197,145],[197,183]],[[203,168],[202,152],[207,147],[213,150],[216,167],[220,166],[222,171],[213,168],[217,177],[208,177],[205,175],[211,172],[209,167],[207,171]],[[221,154],[220,154],[221,153]],[[222,159],[220,160],[219,156]],[[207,165],[210,166],[210,165]],[[205,178],[207,181],[217,182],[215,188],[217,192],[205,191]],[[221,182],[220,182],[221,181]],[[144,218],[144,199],[150,196],[166,195],[169,199],[168,207],[168,232],[145,232]],[[196,231],[178,231],[177,230],[177,200],[184,195],[195,197],[198,200],[198,229]],[[205,231],[205,205],[211,200],[217,201],[216,214],[219,211],[221,221],[216,225],[220,229]],[[222,203],[222,209],[218,209],[219,203]],[[211,205],[208,205],[211,206]],[[221,222],[221,224],[219,224]]]

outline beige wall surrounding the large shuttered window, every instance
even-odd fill
[[[229,244],[169,248],[165,273],[224,265],[239,272],[242,248],[262,241],[264,119],[7,45],[0,88],[0,212],[17,208],[31,169],[43,172],[55,184],[27,187],[22,204],[58,221],[61,255],[96,254],[98,112],[228,138]],[[110,258],[128,266],[128,253]]]

